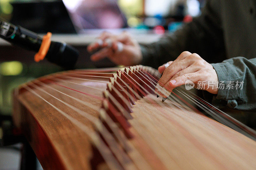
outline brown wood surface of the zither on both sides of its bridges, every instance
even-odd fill
[[[45,79],[53,80],[52,76],[39,80]],[[92,86],[98,90],[55,80],[77,91],[103,97],[109,80],[91,79],[103,82],[68,78],[65,81]],[[81,113],[100,119],[99,109],[102,107],[102,100],[51,82],[46,84],[90,105],[86,106],[47,85],[44,86],[38,80],[27,85],[77,122],[98,133],[95,124]],[[82,112],[67,107],[36,86]],[[24,87],[27,86],[23,85],[14,92],[13,120],[27,137],[44,169],[109,168],[83,129]],[[154,99],[154,102],[151,99]],[[170,105],[170,102],[162,103],[160,100],[150,94],[137,100],[133,105],[132,119],[128,120],[133,137],[124,137],[131,148],[125,151],[129,160],[125,157],[122,159],[126,165],[125,169],[255,169],[255,141],[201,113],[181,105],[184,109],[180,109]],[[119,130],[123,134],[123,130]]]

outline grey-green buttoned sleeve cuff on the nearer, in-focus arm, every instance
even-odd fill
[[[255,110],[256,58],[234,57],[212,66],[219,81],[218,94],[213,97],[212,104],[227,105],[238,110]]]

